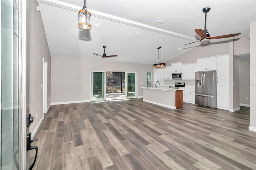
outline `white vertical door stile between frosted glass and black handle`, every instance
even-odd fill
[[[27,1],[18,1],[19,20],[19,169],[27,167],[26,116],[29,113],[29,59],[27,58]],[[28,67],[27,67],[28,66]]]

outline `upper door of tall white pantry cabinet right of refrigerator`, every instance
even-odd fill
[[[228,67],[228,59],[229,55],[222,55],[218,56],[216,58],[217,60],[217,79],[222,79],[226,80],[228,79],[228,72],[229,72],[229,67]]]

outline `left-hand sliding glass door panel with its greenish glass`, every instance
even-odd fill
[[[106,71],[90,71],[90,73],[91,73],[90,101],[106,100],[107,72]]]

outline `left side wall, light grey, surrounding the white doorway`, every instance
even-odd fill
[[[38,2],[36,0],[27,1],[29,3],[29,14],[27,22],[29,24],[29,99],[30,99],[30,113],[34,117],[34,122],[30,125],[30,132],[32,137],[36,133],[36,130],[40,126],[43,115],[43,58],[48,61],[48,69],[51,68],[51,56],[44,32],[44,26],[42,23],[41,13],[36,10]],[[48,72],[48,99],[50,97],[50,72]],[[50,101],[48,101],[50,105]]]

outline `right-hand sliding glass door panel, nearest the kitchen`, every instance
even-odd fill
[[[136,72],[125,72],[126,99],[138,97],[138,76]]]

